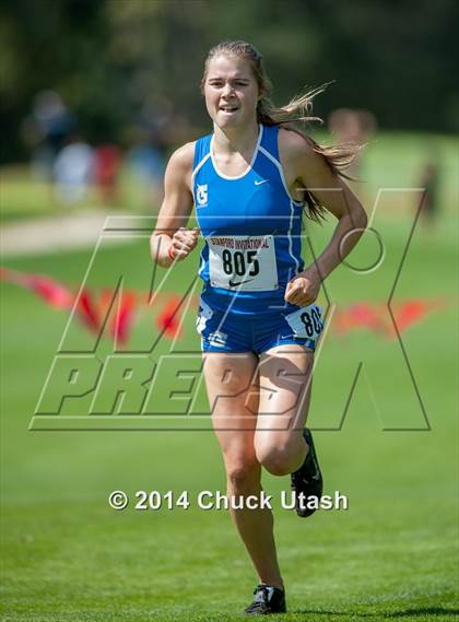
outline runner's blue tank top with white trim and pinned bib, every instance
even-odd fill
[[[279,160],[278,126],[259,126],[252,161],[228,177],[213,157],[213,134],[195,148],[192,190],[205,239],[199,275],[202,298],[215,310],[252,315],[298,308],[284,301],[287,282],[304,269],[302,202],[289,193]]]

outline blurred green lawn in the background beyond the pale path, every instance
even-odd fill
[[[317,140],[330,143],[330,137],[318,131]],[[459,153],[452,136],[379,132],[364,151],[360,178],[356,185],[367,203],[373,202],[380,188],[413,188],[420,186],[421,172],[427,162],[439,169],[439,200],[444,211],[452,211],[457,201],[457,171]],[[1,222],[72,213],[75,210],[102,207],[101,196],[92,189],[76,204],[62,206],[52,189],[34,178],[27,167],[15,165],[0,168]],[[158,189],[160,191],[160,189]],[[410,198],[401,202],[409,209]],[[152,191],[142,187],[127,167],[119,177],[119,197],[110,209],[116,212],[151,213]],[[400,209],[397,203],[392,212]]]

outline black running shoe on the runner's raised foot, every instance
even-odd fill
[[[314,448],[314,441],[310,430],[305,427],[303,432],[306,443],[309,445],[309,451],[303,462],[303,466],[291,474],[292,490],[296,494],[296,514],[302,518],[306,518],[316,512],[315,507],[306,507],[309,497],[317,497],[320,501],[323,490],[323,479],[320,472],[319,462]],[[298,498],[299,493],[303,493],[304,501],[301,504]],[[311,504],[313,505],[313,504]]]

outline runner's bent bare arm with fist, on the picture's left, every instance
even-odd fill
[[[193,197],[191,192],[195,143],[189,142],[173,153],[164,178],[164,200],[156,226],[150,238],[153,261],[168,268],[175,260],[181,261],[198,244],[199,230],[184,225],[190,216]]]

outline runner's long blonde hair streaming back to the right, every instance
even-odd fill
[[[310,116],[310,112],[313,108],[314,97],[319,93],[322,93],[328,84],[307,91],[303,95],[295,96],[289,102],[289,104],[278,108],[270,99],[272,84],[264,71],[261,54],[251,44],[243,40],[235,40],[222,42],[211,48],[204,63],[201,91],[204,89],[209,63],[217,56],[236,56],[247,60],[250,64],[260,93],[260,99],[257,106],[258,122],[266,126],[284,126],[285,129],[301,133],[311,144],[314,151],[325,157],[328,166],[336,175],[350,179],[343,171],[356,157],[363,145],[356,143],[334,144],[330,146],[321,145],[301,129],[301,124],[309,124],[311,121],[322,122],[319,117]],[[319,221],[320,218],[325,216],[325,208],[308,190],[305,191],[304,202],[308,207],[307,215],[310,219]]]

